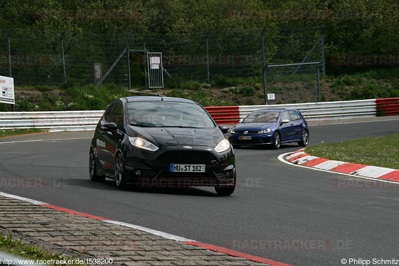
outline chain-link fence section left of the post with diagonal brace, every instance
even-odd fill
[[[95,83],[102,77],[95,65],[106,73],[125,49],[127,36],[0,29],[0,75],[16,84]],[[127,62],[125,53],[106,81],[127,86]]]

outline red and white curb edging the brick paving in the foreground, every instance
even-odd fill
[[[36,200],[24,198],[24,197],[19,197],[19,196],[12,195],[12,194],[7,194],[7,193],[0,192],[0,196],[7,197],[7,198],[12,198],[12,199],[16,199],[16,200],[21,200],[21,201],[24,201],[24,202],[29,202],[29,203],[34,204],[34,205],[47,207],[47,208],[50,208],[50,209],[53,209],[53,210],[58,210],[60,212],[64,212],[64,213],[68,213],[68,214],[79,215],[79,216],[83,216],[83,217],[86,217],[86,218],[91,218],[91,219],[95,219],[95,220],[104,221],[106,223],[110,223],[110,224],[114,224],[114,225],[120,225],[120,226],[125,226],[125,227],[129,227],[129,228],[137,229],[137,230],[140,230],[140,231],[144,231],[144,232],[147,232],[147,233],[150,233],[150,234],[153,234],[153,235],[157,235],[157,236],[160,236],[160,237],[164,237],[164,238],[167,238],[167,239],[170,239],[170,240],[174,240],[174,241],[177,241],[177,242],[182,242],[182,243],[185,243],[185,244],[188,244],[188,245],[205,248],[205,249],[210,250],[210,251],[223,253],[223,254],[226,254],[226,255],[229,255],[229,256],[233,256],[233,257],[239,257],[239,258],[247,259],[247,260],[250,260],[250,261],[253,261],[253,262],[257,262],[257,263],[263,263],[263,264],[270,265],[270,266],[291,266],[291,265],[288,265],[288,264],[279,263],[279,262],[275,262],[275,261],[272,261],[272,260],[268,260],[268,259],[264,259],[264,258],[252,256],[252,255],[248,255],[248,254],[245,254],[245,253],[241,253],[241,252],[236,252],[236,251],[233,251],[233,250],[225,249],[223,247],[218,247],[218,246],[213,246],[213,245],[209,245],[209,244],[204,244],[204,243],[201,243],[201,242],[197,242],[195,240],[182,238],[182,237],[179,237],[179,236],[171,235],[171,234],[168,234],[168,233],[165,233],[165,232],[161,232],[161,231],[157,231],[157,230],[153,230],[153,229],[150,229],[150,228],[137,226],[137,225],[132,225],[132,224],[124,223],[124,222],[118,222],[118,221],[114,221],[114,220],[111,220],[111,219],[107,219],[107,218],[103,218],[103,217],[99,217],[99,216],[94,216],[94,215],[90,215],[90,214],[85,214],[85,213],[81,213],[81,212],[77,212],[77,211],[73,211],[73,210],[57,207],[57,206],[54,206],[54,205],[50,205],[50,204],[47,204],[45,202],[36,201]]]

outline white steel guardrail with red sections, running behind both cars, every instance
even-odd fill
[[[298,109],[309,125],[346,119],[399,115],[399,98],[278,105],[205,107],[216,124],[237,124],[254,110]],[[0,112],[0,129],[37,128],[47,131],[94,130],[104,111]]]

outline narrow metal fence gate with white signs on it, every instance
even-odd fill
[[[163,88],[164,75],[162,71],[162,52],[147,53],[148,87]]]

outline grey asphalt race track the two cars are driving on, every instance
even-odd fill
[[[316,145],[398,134],[399,120],[309,131],[310,145]],[[1,139],[0,180],[19,183],[2,182],[0,191],[295,266],[399,259],[399,185],[368,181],[365,187],[339,188],[337,178],[364,180],[280,162],[278,155],[300,148],[296,143],[277,151],[236,149],[239,186],[231,196],[219,197],[213,188],[121,191],[110,179],[91,182],[92,135]],[[11,142],[28,139],[43,141]],[[45,187],[29,185],[28,178]]]

